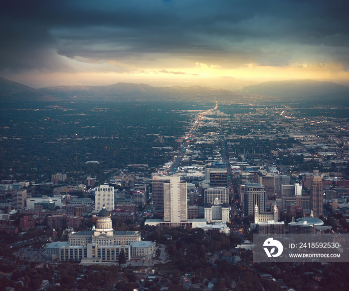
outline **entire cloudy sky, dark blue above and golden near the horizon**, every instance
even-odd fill
[[[348,0],[1,0],[0,76],[60,85],[349,85]]]

